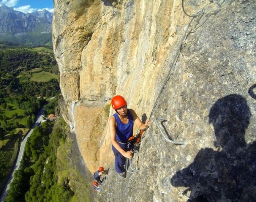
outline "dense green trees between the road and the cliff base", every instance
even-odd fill
[[[58,183],[57,149],[65,141],[65,122],[44,122],[28,138],[20,169],[6,201],[68,201],[74,195],[63,179]]]

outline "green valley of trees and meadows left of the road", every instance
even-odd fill
[[[2,187],[15,161],[19,142],[43,106],[46,117],[54,113],[60,88],[53,51],[46,47],[16,48],[13,44],[0,44],[0,76]]]

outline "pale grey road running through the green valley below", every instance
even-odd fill
[[[12,172],[12,175],[10,176],[6,186],[5,186],[5,189],[3,191],[3,194],[1,196],[1,202],[4,202],[6,196],[7,196],[7,193],[10,189],[10,184],[12,183],[13,179],[14,179],[14,173],[15,171],[17,171],[19,168],[20,168],[20,162],[23,158],[23,155],[24,155],[24,151],[25,151],[25,145],[26,145],[26,142],[27,142],[27,138],[30,137],[30,135],[32,134],[35,126],[38,126],[41,122],[44,122],[46,120],[43,119],[44,117],[44,110],[41,109],[36,117],[36,121],[34,123],[34,125],[31,127],[31,129],[29,130],[29,132],[27,133],[26,137],[22,140],[21,144],[20,144],[20,150],[19,150],[19,155],[18,155],[18,158],[17,158],[17,161],[16,161],[16,165],[14,166],[14,169],[13,169],[13,172]]]

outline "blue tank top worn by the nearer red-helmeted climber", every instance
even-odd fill
[[[127,140],[133,136],[133,128],[134,128],[134,119],[132,113],[127,110],[128,123],[124,124],[121,122],[118,114],[114,115],[115,121],[117,123],[116,127],[116,141],[118,142],[127,142]]]

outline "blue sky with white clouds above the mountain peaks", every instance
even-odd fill
[[[53,13],[53,0],[0,0],[0,6],[5,4],[23,13],[32,13],[46,9]]]

